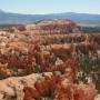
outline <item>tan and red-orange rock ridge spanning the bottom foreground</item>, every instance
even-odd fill
[[[34,100],[54,91],[54,100],[94,100],[93,83],[76,84],[63,76],[52,72],[33,73],[0,80],[0,100]],[[49,93],[50,94],[50,93]]]

